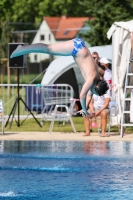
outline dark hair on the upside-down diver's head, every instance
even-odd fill
[[[104,80],[97,81],[97,83],[95,85],[95,91],[99,96],[106,94],[108,89],[109,89],[109,86],[106,81],[104,81]]]

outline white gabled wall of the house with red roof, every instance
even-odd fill
[[[41,35],[44,35],[44,40],[41,40]],[[49,39],[49,35],[50,35],[50,39]],[[45,44],[56,43],[55,37],[45,20],[43,20],[43,22],[41,23],[38,29],[38,32],[36,33],[34,37],[32,44],[35,44],[35,43],[45,43]],[[30,62],[33,63],[33,62],[40,62],[41,60],[49,59],[50,56],[48,54],[43,54],[43,53],[31,53],[29,54],[29,57],[30,57]]]

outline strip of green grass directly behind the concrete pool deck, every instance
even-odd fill
[[[38,119],[40,122],[40,119]],[[22,121],[20,121],[22,122]],[[76,128],[77,132],[84,132],[85,127],[83,123],[83,118],[82,117],[73,117],[73,122]],[[50,127],[50,122],[46,121],[42,127],[38,125],[38,123],[35,121],[34,118],[32,119],[26,119],[20,127],[17,126],[16,122],[13,121],[11,129],[9,128],[10,123],[8,123],[8,126],[5,128],[5,132],[7,131],[13,131],[13,132],[48,132],[49,127]],[[94,132],[97,132],[97,128],[93,128]],[[66,123],[65,125],[62,124],[62,122],[55,122],[54,123],[54,128],[53,132],[73,132],[71,124]],[[118,127],[117,126],[112,126],[111,127],[111,132],[118,132]],[[133,132],[133,127],[128,127],[126,129],[126,132],[132,133]]]

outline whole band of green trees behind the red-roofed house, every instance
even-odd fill
[[[38,29],[44,16],[95,17],[88,21],[90,31],[83,37],[91,45],[109,44],[106,33],[115,21],[132,19],[132,0],[1,0],[0,20],[9,22],[12,30]],[[0,38],[1,38],[0,27]],[[35,33],[34,33],[35,34]],[[31,42],[34,34],[24,34],[24,42]],[[18,34],[14,35],[20,37]]]

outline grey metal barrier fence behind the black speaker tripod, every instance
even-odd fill
[[[60,87],[61,90],[70,90],[71,97],[73,97],[73,88],[68,84],[19,84],[19,97],[23,99],[28,108],[34,113],[36,117],[41,117],[39,114],[44,108],[44,99],[42,96],[42,87]],[[3,101],[4,115],[9,116],[16,99],[18,98],[18,85],[17,84],[0,84],[0,99]],[[25,117],[29,114],[25,105],[20,101],[19,115]],[[18,109],[14,113],[18,115]]]

